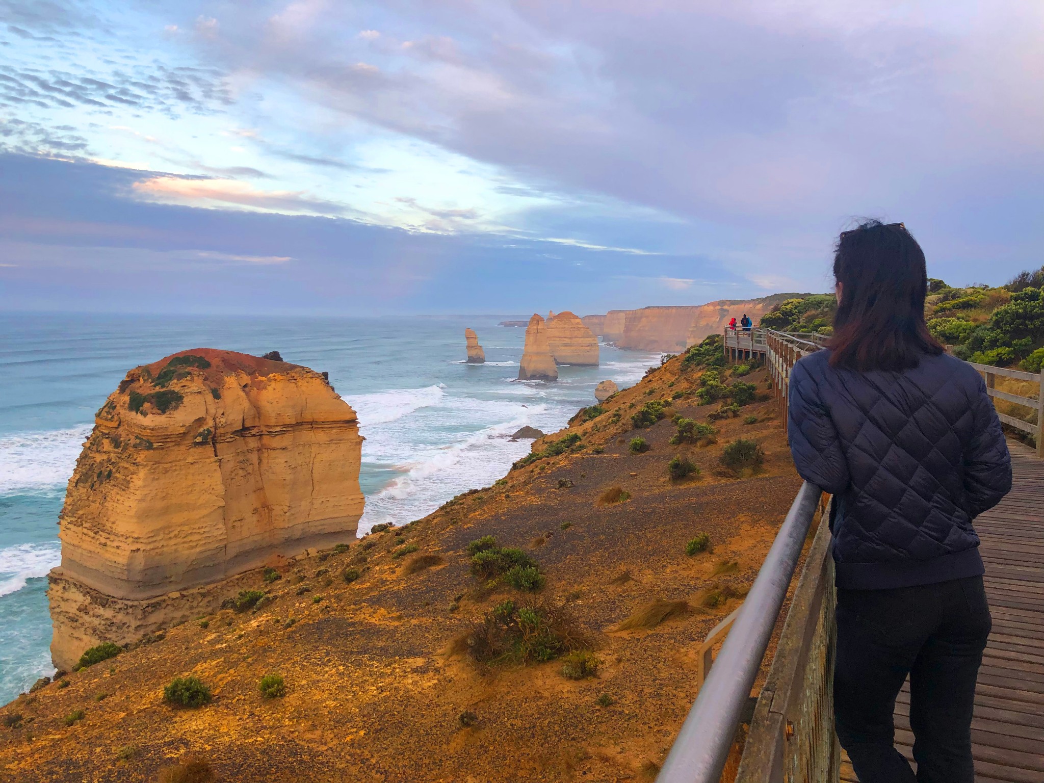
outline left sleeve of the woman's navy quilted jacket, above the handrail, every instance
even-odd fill
[[[818,384],[799,361],[790,371],[788,435],[798,474],[832,495],[849,485],[848,460]]]

